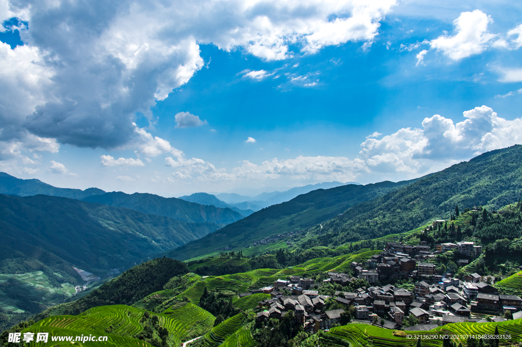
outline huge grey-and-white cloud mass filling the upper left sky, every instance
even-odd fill
[[[369,46],[396,3],[2,1],[2,22],[29,25],[20,29],[25,45],[0,43],[0,141],[24,142],[29,132],[79,147],[122,147],[136,135],[136,112],[152,120],[158,100],[208,67],[198,42],[266,61],[292,57],[290,45],[306,54],[348,41]],[[252,78],[263,77],[252,71]]]

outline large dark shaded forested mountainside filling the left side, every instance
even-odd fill
[[[2,273],[48,269],[78,277],[71,265],[102,274],[128,267],[216,230],[89,202],[0,195]],[[101,273],[100,273],[101,272]]]

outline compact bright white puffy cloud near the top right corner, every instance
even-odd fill
[[[482,53],[487,49],[488,43],[497,37],[488,33],[488,24],[492,21],[490,16],[478,9],[462,12],[453,21],[456,34],[442,35],[430,41],[430,45],[432,49],[444,52],[455,61]]]

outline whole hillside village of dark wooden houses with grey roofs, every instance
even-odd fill
[[[434,221],[434,225],[441,222]],[[449,250],[467,258],[459,259],[459,267],[482,252],[473,242],[443,243],[434,249],[423,242],[416,246],[387,242],[382,252],[364,263],[352,262],[350,274],[328,272],[327,278],[317,283],[311,278],[289,276],[240,296],[270,294],[269,299],[258,303],[257,321],[282,319],[293,311],[295,324],[306,332],[328,330],[346,324],[347,319],[387,329],[431,330],[455,322],[522,318],[522,299],[499,293],[491,277],[471,273],[457,279],[451,273],[437,274],[430,259]],[[402,279],[414,280],[413,291],[393,284],[379,286]],[[327,283],[346,286],[355,280],[365,280],[368,285],[353,292],[319,294],[318,289]],[[324,310],[326,306],[337,308]]]

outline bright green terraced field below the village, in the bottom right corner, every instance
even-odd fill
[[[508,341],[500,340],[500,343],[518,344],[522,342],[522,319],[508,320],[504,322],[487,323],[455,323],[447,324],[430,331],[408,331],[409,334],[449,334],[455,336],[487,335],[495,332],[495,326],[499,328],[501,335],[511,335]],[[364,324],[349,324],[342,327],[330,329],[328,334],[350,341],[354,347],[365,345],[367,341],[372,341],[375,347],[395,347],[398,344],[405,347],[413,347],[416,340],[408,340],[403,337],[396,337],[392,334],[393,330],[383,329]],[[456,343],[466,344],[466,338],[454,340]],[[440,347],[442,339],[426,339],[422,341],[423,346]]]

